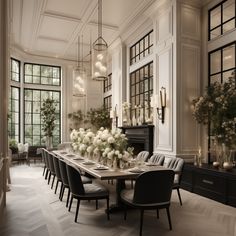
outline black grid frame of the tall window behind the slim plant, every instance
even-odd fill
[[[41,88],[24,88],[23,89],[23,94],[24,94],[24,98],[23,98],[23,107],[24,107],[24,117],[25,117],[25,115],[26,115],[26,107],[25,107],[25,102],[26,102],[26,100],[25,100],[25,91],[26,90],[31,90],[31,91],[40,91],[40,108],[41,108],[41,104],[43,103],[43,100],[41,100],[41,93],[43,92],[43,91],[46,91],[46,92],[57,92],[57,93],[59,93],[59,113],[57,113],[58,114],[58,116],[59,116],[59,124],[58,124],[58,126],[59,126],[59,135],[57,135],[57,137],[58,137],[58,143],[56,143],[57,145],[61,142],[61,91],[60,90],[52,90],[52,89],[41,89]],[[28,101],[28,100],[27,100]],[[31,100],[31,103],[32,103],[32,105],[31,106],[33,106],[33,100]],[[42,138],[44,137],[44,135],[43,135],[43,133],[42,133],[42,123],[41,123],[41,111],[39,111],[38,113],[34,113],[33,112],[33,107],[31,107],[31,110],[32,110],[32,112],[31,113],[27,113],[27,114],[31,114],[31,121],[33,122],[33,114],[40,114],[40,124],[37,124],[37,125],[40,125],[40,135],[31,135],[32,136],[32,142],[33,142],[33,136],[39,136],[40,137],[40,144],[39,145],[45,145],[45,143],[43,143],[42,142]],[[31,122],[31,125],[32,125],[32,127],[33,127],[33,123]],[[25,119],[24,119],[24,121],[23,121],[23,127],[24,127],[24,130],[23,130],[23,133],[24,133],[24,143],[26,143],[26,138],[27,138],[27,136],[26,136],[26,125],[28,125],[28,124],[26,124],[25,123]],[[32,130],[33,131],[33,130]],[[52,140],[52,142],[53,142],[53,140]],[[54,143],[54,142],[53,142]],[[34,143],[32,143],[31,144],[32,146],[35,146],[35,144]],[[38,144],[37,144],[38,145]],[[36,145],[36,146],[37,146]]]

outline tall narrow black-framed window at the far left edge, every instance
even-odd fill
[[[8,114],[8,135],[20,141],[20,88],[10,87]]]

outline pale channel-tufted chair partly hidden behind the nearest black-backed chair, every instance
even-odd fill
[[[173,189],[177,190],[179,202],[180,202],[180,205],[182,206],[182,199],[180,195],[180,183],[181,183],[182,172],[183,172],[183,167],[184,167],[184,160],[179,157],[171,158],[170,161],[167,161],[166,163],[164,163],[164,167],[171,169],[175,172]]]

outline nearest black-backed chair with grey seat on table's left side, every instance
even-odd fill
[[[98,184],[83,184],[80,172],[71,165],[66,165],[66,171],[69,180],[69,186],[71,190],[71,199],[69,210],[71,209],[71,204],[73,198],[77,199],[77,207],[75,213],[75,222],[77,222],[79,206],[81,200],[107,200],[107,219],[109,220],[109,191],[102,185]]]

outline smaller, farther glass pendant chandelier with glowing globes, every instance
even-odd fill
[[[86,70],[83,66],[83,36],[82,36],[82,58],[80,57],[80,36],[78,36],[77,66],[73,72],[73,96],[86,96]]]

